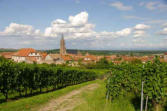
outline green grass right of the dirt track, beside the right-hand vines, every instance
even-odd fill
[[[77,106],[74,111],[135,111],[131,103],[132,95],[120,97],[110,102],[105,98],[106,89],[104,81],[97,81],[97,83],[100,86],[96,90],[81,94],[84,102]]]

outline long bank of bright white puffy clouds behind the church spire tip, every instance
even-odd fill
[[[0,32],[0,36],[58,37],[63,33],[66,36],[66,39],[103,37],[118,38],[126,37],[132,32],[132,28],[124,28],[115,32],[96,32],[94,30],[95,25],[88,22],[87,12],[81,12],[75,16],[69,16],[68,20],[69,21],[56,19],[51,22],[49,27],[45,28],[44,32],[40,32],[39,29],[34,29],[31,25],[11,23],[4,31]]]

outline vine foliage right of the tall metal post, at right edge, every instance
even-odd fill
[[[143,71],[145,94],[154,104],[162,104],[167,96],[167,64],[161,63],[158,58],[153,63],[148,62]]]

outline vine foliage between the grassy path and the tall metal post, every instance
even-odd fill
[[[107,80],[107,96],[115,99],[120,95],[125,95],[126,92],[139,92],[141,73],[141,64],[116,65]]]

